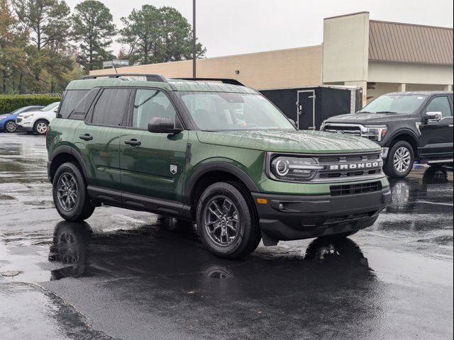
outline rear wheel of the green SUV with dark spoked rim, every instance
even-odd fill
[[[94,211],[84,176],[72,163],[64,163],[57,169],[52,182],[52,196],[57,212],[67,221],[86,220]]]

